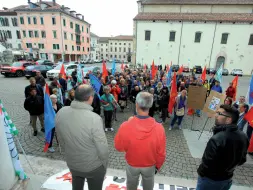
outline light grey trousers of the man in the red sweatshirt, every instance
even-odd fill
[[[143,190],[153,190],[155,182],[155,166],[152,167],[132,167],[126,164],[127,190],[136,190],[139,177],[142,177]]]

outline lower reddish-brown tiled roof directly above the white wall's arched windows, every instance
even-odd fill
[[[253,22],[249,13],[139,13],[134,20]]]

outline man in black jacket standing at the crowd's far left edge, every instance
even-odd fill
[[[30,96],[25,99],[24,108],[29,112],[33,127],[33,136],[37,136],[36,122],[37,117],[40,120],[41,131],[44,129],[44,99],[37,95],[36,88],[30,89]]]

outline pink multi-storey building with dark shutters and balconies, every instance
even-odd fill
[[[39,59],[78,61],[90,54],[90,24],[84,16],[53,0],[21,5],[15,10],[22,48]]]

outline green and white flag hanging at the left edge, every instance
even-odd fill
[[[17,151],[16,145],[12,136],[12,135],[17,135],[18,130],[16,129],[15,125],[12,123],[10,116],[6,112],[6,109],[4,108],[1,100],[0,100],[0,122],[3,122],[3,126],[5,127],[5,133],[7,137],[6,140],[9,146],[10,155],[12,158],[12,163],[15,169],[15,173],[19,177],[19,179],[21,180],[27,179],[27,176],[21,166],[19,156],[18,156],[18,151]]]

